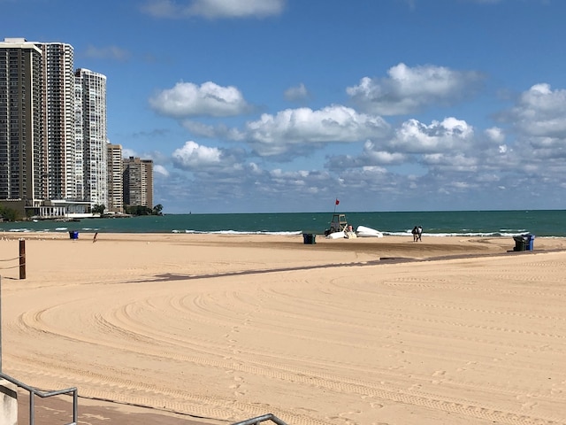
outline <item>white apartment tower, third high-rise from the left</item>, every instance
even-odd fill
[[[73,185],[77,195],[91,206],[108,207],[106,76],[77,69],[74,100]]]

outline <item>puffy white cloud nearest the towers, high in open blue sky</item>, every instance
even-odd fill
[[[207,81],[200,86],[179,82],[149,98],[151,108],[173,118],[195,116],[228,117],[249,111],[239,89]]]

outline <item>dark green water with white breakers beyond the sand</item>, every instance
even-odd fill
[[[337,212],[339,213],[339,212]],[[344,212],[340,212],[344,213]],[[348,213],[354,228],[375,228],[385,236],[410,236],[415,226],[429,236],[566,237],[566,211],[439,211]],[[0,231],[79,233],[221,233],[260,235],[324,234],[333,213],[167,214],[119,219],[0,223]]]

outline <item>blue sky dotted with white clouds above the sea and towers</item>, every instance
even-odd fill
[[[0,0],[164,213],[564,209],[562,0]]]

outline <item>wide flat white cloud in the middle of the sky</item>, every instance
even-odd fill
[[[263,114],[248,122],[237,138],[262,157],[310,151],[325,143],[352,143],[383,137],[389,125],[380,117],[361,114],[341,105],[313,111],[310,108],[287,109],[276,115]]]

